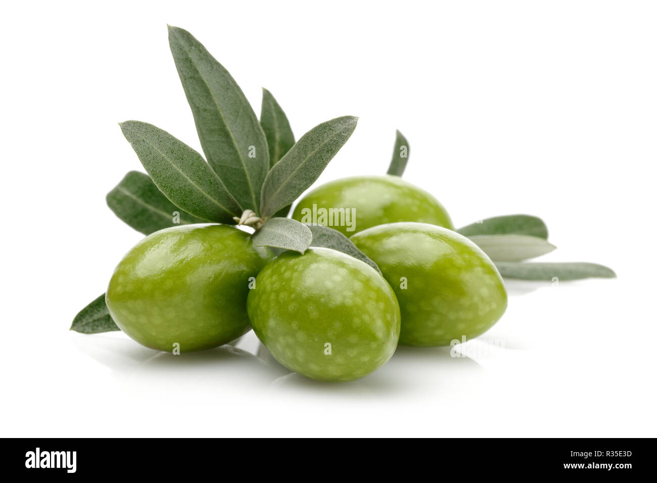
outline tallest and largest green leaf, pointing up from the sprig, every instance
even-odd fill
[[[169,26],[169,45],[208,163],[242,208],[258,213],[269,150],[256,113],[231,74],[187,30]]]

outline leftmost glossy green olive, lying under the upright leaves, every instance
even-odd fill
[[[273,254],[228,225],[181,225],[148,235],[118,264],[105,300],[116,325],[144,346],[210,349],[250,329],[249,277]]]

